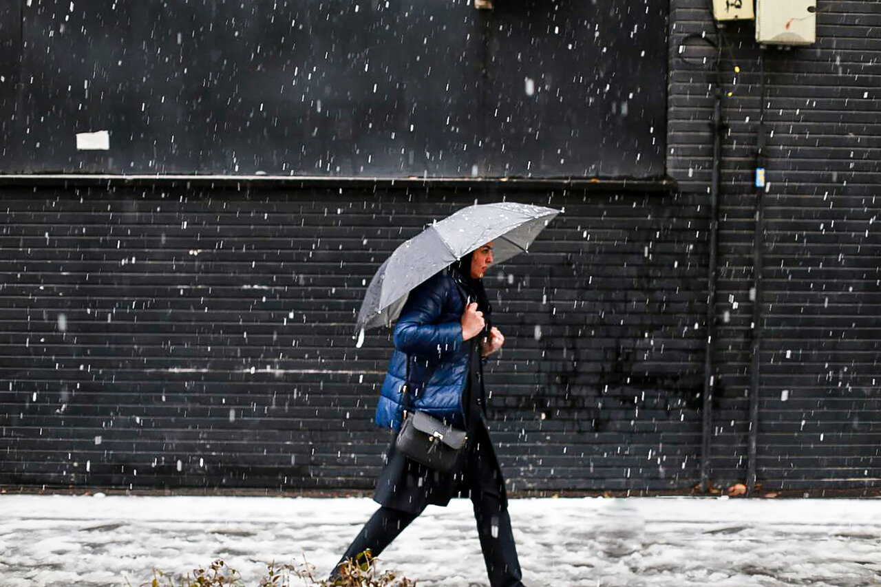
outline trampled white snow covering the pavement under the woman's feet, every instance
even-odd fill
[[[366,498],[0,495],[0,587],[148,583],[217,558],[256,585],[270,561],[324,576]],[[528,587],[881,583],[881,501],[512,500]],[[430,507],[381,555],[420,587],[486,585],[470,502]]]

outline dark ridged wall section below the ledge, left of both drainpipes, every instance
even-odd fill
[[[511,487],[695,482],[706,227],[687,198],[240,188],[4,190],[0,484],[373,487],[390,344],[355,347],[366,283],[426,222],[503,197],[565,208],[487,277]]]

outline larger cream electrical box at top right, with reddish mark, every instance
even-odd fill
[[[756,0],[756,41],[773,45],[817,41],[817,0]]]

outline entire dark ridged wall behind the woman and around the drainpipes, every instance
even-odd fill
[[[816,45],[764,54],[758,480],[871,490],[881,478],[881,4],[818,8]],[[387,441],[371,416],[389,340],[353,346],[364,284],[424,222],[507,197],[566,208],[529,257],[489,276],[508,337],[490,386],[511,486],[692,487],[715,74],[712,48],[693,37],[679,46],[714,27],[703,0],[672,0],[670,11],[674,194],[504,182],[4,188],[0,483],[371,487]],[[717,487],[744,481],[747,467],[752,34],[751,23],[729,26],[722,56]]]

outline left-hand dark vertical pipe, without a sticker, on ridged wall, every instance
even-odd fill
[[[719,248],[719,177],[722,167],[722,31],[718,33],[713,100],[713,179],[710,186],[709,263],[707,267],[707,351],[704,355],[703,429],[700,450],[700,491],[710,486],[710,438],[713,434],[713,344],[715,338],[716,254]]]

